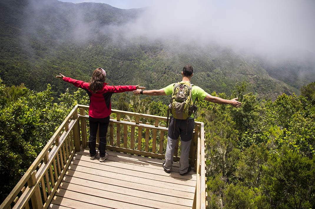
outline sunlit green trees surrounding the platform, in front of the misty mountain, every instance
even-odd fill
[[[315,204],[314,90],[305,96],[280,95],[257,101],[243,95],[246,83],[231,94],[242,108],[198,101],[197,121],[205,124],[208,208],[312,208]],[[1,201],[76,104],[88,105],[84,90],[65,92],[52,102],[51,86],[36,92],[0,80]],[[117,94],[113,108],[166,115],[166,105],[150,97]],[[218,131],[220,130],[220,131]],[[122,139],[123,140],[123,139]],[[122,141],[123,143],[123,141]],[[152,143],[152,142],[151,142]],[[152,145],[151,145],[152,146]]]

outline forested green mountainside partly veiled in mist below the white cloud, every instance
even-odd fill
[[[121,25],[143,9],[56,0],[4,0],[0,7],[0,77],[9,86],[24,83],[43,90],[49,83],[56,96],[66,88],[74,90],[54,79],[57,73],[89,81],[93,70],[103,67],[110,84],[155,89],[179,81],[182,67],[190,64],[192,83],[208,92],[230,94],[237,82],[246,81],[258,98],[275,100],[282,93],[299,94],[301,86],[314,79],[312,62],[275,65],[218,45],[126,40],[106,31],[109,24]]]

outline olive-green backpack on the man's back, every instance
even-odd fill
[[[187,119],[197,110],[195,102],[192,102],[192,84],[190,82],[179,82],[174,85],[172,98],[167,111],[167,123],[169,122],[169,112],[176,119]],[[196,98],[197,99],[197,98]]]

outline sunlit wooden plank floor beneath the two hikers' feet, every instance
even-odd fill
[[[100,162],[81,148],[49,208],[192,208],[196,173],[181,176],[178,163],[166,173],[163,160],[106,152]]]

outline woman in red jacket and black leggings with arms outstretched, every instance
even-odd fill
[[[106,72],[102,68],[97,68],[93,72],[93,76],[89,83],[65,77],[62,74],[56,76],[62,80],[71,83],[79,88],[86,90],[90,98],[89,107],[89,123],[90,123],[90,159],[93,160],[98,154],[96,147],[96,133],[97,127],[100,126],[100,161],[103,162],[108,157],[106,153],[106,134],[109,124],[109,115],[111,114],[111,96],[113,93],[120,93],[125,91],[133,91],[136,89],[145,89],[139,85],[135,86],[108,86],[105,83]]]

